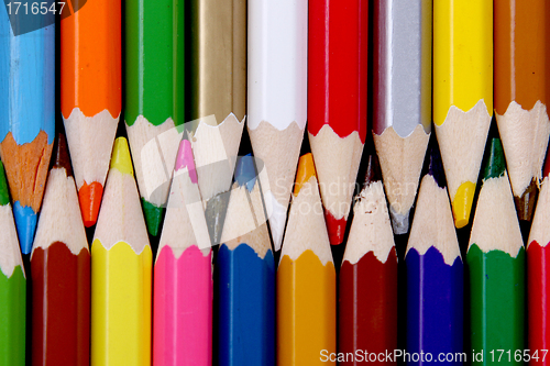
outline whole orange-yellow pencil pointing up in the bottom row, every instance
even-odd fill
[[[306,154],[277,269],[277,365],[324,365],[321,351],[336,352],[336,282],[314,159]]]

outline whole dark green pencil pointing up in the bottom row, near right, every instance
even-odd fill
[[[524,350],[525,249],[506,174],[501,140],[488,141],[487,163],[477,199],[466,262],[470,271],[472,350],[495,363],[522,365],[514,357]],[[481,363],[480,363],[481,364]]]

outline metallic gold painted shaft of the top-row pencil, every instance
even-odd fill
[[[213,114],[219,124],[246,103],[246,1],[193,0],[189,4],[188,121]]]

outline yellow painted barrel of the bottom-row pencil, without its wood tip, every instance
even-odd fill
[[[91,257],[91,365],[151,365],[151,247],[96,240]]]

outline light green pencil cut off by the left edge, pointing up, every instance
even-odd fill
[[[0,364],[25,365],[26,278],[0,162]]]

